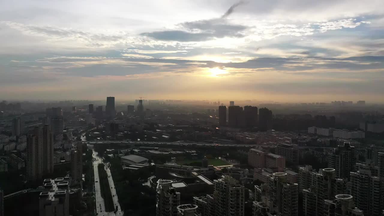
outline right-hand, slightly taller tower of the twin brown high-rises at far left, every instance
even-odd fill
[[[42,128],[43,174],[53,173],[53,134],[50,125]]]

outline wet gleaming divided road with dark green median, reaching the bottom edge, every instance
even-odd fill
[[[99,181],[99,171],[98,171],[98,165],[103,163],[102,158],[100,158],[97,155],[97,152],[92,149],[93,158],[96,158],[96,161],[93,161],[93,171],[94,171],[94,178],[95,178],[95,198],[96,198],[96,213],[98,215],[104,215],[104,216],[123,216],[123,212],[121,211],[120,204],[118,201],[118,196],[116,194],[115,185],[111,176],[111,171],[104,166],[104,169],[106,169],[108,174],[108,181],[109,186],[112,188],[109,188],[111,190],[112,198],[114,206],[118,206],[118,211],[116,214],[114,212],[106,212],[105,206],[104,206],[104,199],[101,197],[101,190],[100,190],[100,181]],[[97,182],[96,182],[97,181]]]

